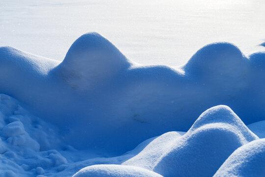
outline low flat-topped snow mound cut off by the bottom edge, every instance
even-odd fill
[[[73,177],[162,177],[139,167],[125,165],[93,165],[81,169]]]

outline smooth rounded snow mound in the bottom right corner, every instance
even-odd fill
[[[265,139],[255,140],[237,150],[213,177],[264,177]]]

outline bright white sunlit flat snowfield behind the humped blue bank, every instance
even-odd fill
[[[212,42],[265,50],[264,8],[264,0],[1,0],[0,46],[63,60],[96,31],[135,62],[177,66]]]

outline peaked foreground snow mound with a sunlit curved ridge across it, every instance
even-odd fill
[[[163,154],[159,147],[149,151],[147,146],[123,165],[164,177],[210,177],[235,149],[256,139],[229,107],[220,105],[205,111],[185,135],[171,140]]]

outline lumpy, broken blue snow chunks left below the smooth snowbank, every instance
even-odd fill
[[[43,168],[51,171],[51,168],[67,163],[59,152],[52,150],[63,146],[53,125],[29,114],[21,103],[5,94],[0,94],[0,110],[1,176],[43,174]]]

